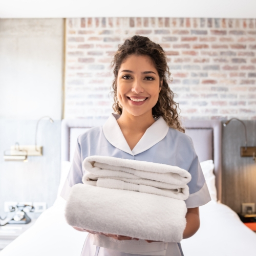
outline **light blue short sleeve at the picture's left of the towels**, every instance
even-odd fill
[[[82,161],[81,161],[81,145],[77,139],[73,162],[72,162],[68,177],[61,190],[60,196],[67,200],[71,187],[77,183],[82,183],[82,176],[83,176],[83,172],[82,172]]]

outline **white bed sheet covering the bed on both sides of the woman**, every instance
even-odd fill
[[[35,224],[0,252],[0,256],[79,256],[86,232],[70,227],[63,214],[66,201],[58,198]],[[224,204],[200,207],[201,227],[183,240],[184,256],[255,255],[256,234]]]

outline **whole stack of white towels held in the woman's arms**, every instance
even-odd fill
[[[69,225],[143,240],[180,242],[191,175],[167,164],[90,156],[66,206]]]

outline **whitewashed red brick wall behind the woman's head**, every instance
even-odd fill
[[[181,116],[256,119],[256,19],[68,18],[65,118],[112,112],[110,62],[135,34],[166,51]]]

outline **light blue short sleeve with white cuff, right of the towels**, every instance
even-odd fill
[[[188,172],[191,174],[192,178],[187,184],[189,187],[189,197],[185,200],[185,203],[187,208],[195,208],[207,204],[211,198],[191,139],[190,142],[193,149],[193,161],[191,162]]]

